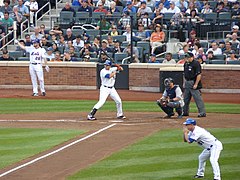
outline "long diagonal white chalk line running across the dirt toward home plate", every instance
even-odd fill
[[[23,168],[23,167],[26,167],[26,166],[28,166],[28,165],[30,165],[30,164],[33,164],[33,163],[35,163],[35,162],[37,162],[37,161],[39,161],[39,160],[41,160],[41,159],[44,159],[44,158],[46,158],[46,157],[48,157],[48,156],[51,156],[51,155],[53,155],[53,154],[56,154],[56,153],[58,153],[58,152],[60,152],[60,151],[62,151],[62,150],[64,150],[64,149],[66,149],[66,148],[68,148],[68,147],[70,147],[70,146],[73,146],[74,144],[77,144],[77,143],[79,143],[79,142],[81,142],[81,141],[84,141],[84,140],[86,140],[86,139],[94,136],[94,135],[97,135],[97,134],[99,134],[99,133],[101,133],[101,132],[103,132],[103,131],[105,131],[105,130],[107,130],[107,129],[115,126],[115,125],[116,125],[116,123],[111,124],[111,125],[109,125],[109,126],[106,126],[106,127],[102,128],[102,129],[99,129],[98,131],[96,131],[96,132],[94,132],[94,133],[92,133],[92,134],[89,134],[89,135],[87,135],[87,136],[85,136],[85,137],[83,137],[83,138],[81,138],[81,139],[78,139],[78,140],[76,140],[76,141],[74,141],[74,142],[72,142],[72,143],[70,143],[70,144],[67,144],[67,145],[65,145],[65,146],[63,146],[63,147],[61,147],[61,148],[59,148],[59,149],[57,149],[57,150],[55,150],[55,151],[52,151],[52,152],[50,152],[50,153],[48,153],[48,154],[45,154],[45,155],[43,155],[43,156],[41,156],[41,157],[38,157],[38,158],[36,158],[36,159],[34,159],[34,160],[32,160],[32,161],[29,161],[29,162],[27,162],[27,163],[25,163],[25,164],[22,164],[22,165],[20,165],[20,166],[18,166],[18,167],[15,167],[15,168],[13,168],[13,169],[10,169],[9,171],[0,174],[0,177],[3,177],[3,176],[5,176],[5,175],[7,175],[7,174],[10,174],[10,173],[14,172],[14,171],[17,171],[18,169],[21,169],[21,168]]]

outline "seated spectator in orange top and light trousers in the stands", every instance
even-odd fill
[[[162,31],[161,25],[157,24],[154,32],[151,34],[151,37],[150,37],[152,54],[154,54],[154,51],[157,47],[163,46],[164,41],[165,41],[165,33]]]

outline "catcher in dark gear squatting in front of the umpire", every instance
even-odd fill
[[[174,116],[173,109],[176,109],[178,118],[182,118],[182,107],[184,106],[182,90],[178,85],[174,84],[172,78],[164,80],[165,90],[162,97],[157,100],[157,105],[167,114],[163,118],[171,118]]]

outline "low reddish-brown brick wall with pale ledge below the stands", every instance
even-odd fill
[[[96,89],[95,63],[49,63],[50,73],[44,72],[47,88]],[[182,71],[181,65],[131,64],[129,89],[159,92],[160,71]],[[31,80],[28,62],[0,62],[0,88],[29,88]],[[204,65],[202,82],[205,91],[240,93],[239,65]]]

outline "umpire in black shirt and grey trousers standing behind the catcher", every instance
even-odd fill
[[[184,107],[183,116],[189,116],[189,104],[193,96],[198,108],[198,117],[206,117],[206,110],[201,96],[201,65],[194,60],[191,52],[185,54],[186,62],[184,63]]]

